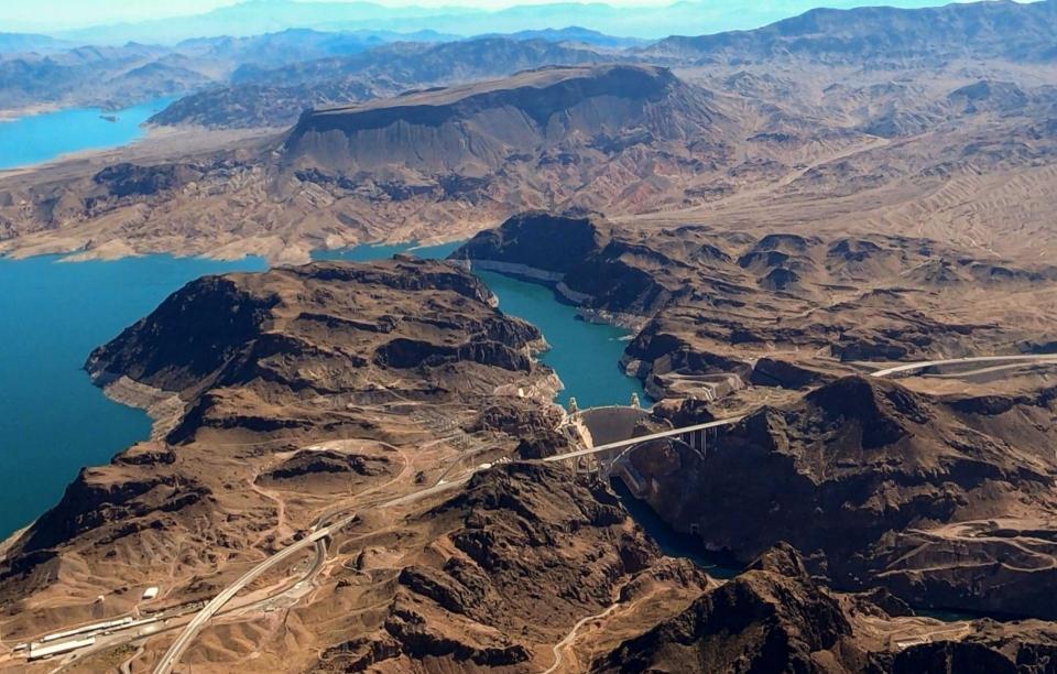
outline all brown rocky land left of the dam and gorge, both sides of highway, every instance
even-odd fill
[[[130,612],[182,629],[350,512],[247,587],[229,606],[244,620],[213,622],[187,662],[230,671],[253,642],[266,671],[531,672],[592,615],[628,629],[684,607],[707,576],[664,557],[608,486],[510,463],[574,441],[558,430],[554,374],[532,358],[540,333],[493,304],[459,267],[404,257],[174,293],[87,367],[101,385],[177,394],[184,412],[155,442],[85,469],[9,542],[4,634]],[[157,599],[141,598],[149,586]],[[280,615],[296,644],[273,637]],[[137,659],[157,662],[174,633]],[[83,665],[106,668],[123,644],[100,642]]]

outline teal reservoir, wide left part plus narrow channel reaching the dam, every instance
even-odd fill
[[[360,246],[320,252],[317,259],[366,261],[397,252],[447,257],[458,243],[412,249]],[[54,506],[84,466],[107,464],[146,439],[141,410],[107,399],[81,369],[88,354],[149,314],[198,276],[260,271],[261,259],[218,262],[148,256],[116,261],[62,262],[57,257],[0,259],[0,539]],[[500,309],[543,330],[554,368],[582,406],[626,404],[641,383],[617,366],[628,333],[585,323],[551,289],[495,273],[480,276]]]

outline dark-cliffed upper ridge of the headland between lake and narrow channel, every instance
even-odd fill
[[[372,293],[340,290],[353,287]],[[417,301],[468,304],[421,312]],[[100,382],[123,376],[177,392],[196,417],[200,403],[215,401],[206,393],[225,387],[333,393],[356,388],[374,367],[439,369],[461,360],[535,372],[526,349],[540,341],[538,330],[499,317],[492,302],[472,275],[411,258],[207,276],[96,349],[86,367]],[[366,313],[374,320],[346,318]],[[327,363],[327,374],[306,378],[308,362]]]

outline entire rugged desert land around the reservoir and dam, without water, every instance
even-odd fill
[[[1055,8],[309,33],[168,142],[0,176],[6,256],[272,265],[86,355],[153,432],[0,547],[0,667],[89,626],[63,666],[1051,671]],[[399,241],[461,243],[312,261]],[[626,452],[494,273],[630,333]]]

